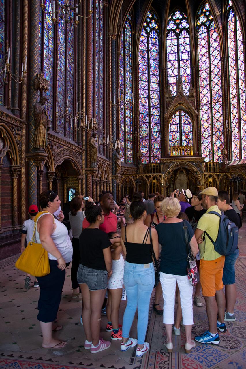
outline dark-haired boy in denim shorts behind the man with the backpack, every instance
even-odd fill
[[[240,214],[236,213],[230,206],[229,194],[227,191],[219,191],[217,205],[235,225],[242,227]],[[235,262],[239,255],[238,247],[236,250],[225,257],[225,265],[223,268],[223,284],[225,284],[226,312],[225,321],[235,321],[234,306],[236,303],[236,286],[235,286]]]

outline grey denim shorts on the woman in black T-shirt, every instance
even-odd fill
[[[77,273],[78,283],[87,284],[90,291],[105,290],[107,288],[107,270],[97,270],[79,264]]]

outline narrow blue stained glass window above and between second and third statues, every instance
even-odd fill
[[[94,45],[93,45],[93,55],[95,55],[94,62],[94,86],[93,91],[95,91],[95,110],[94,116],[98,121],[99,136],[103,135],[103,1],[95,0],[95,14],[93,19],[94,26]],[[102,146],[100,146],[100,153],[103,154]]]

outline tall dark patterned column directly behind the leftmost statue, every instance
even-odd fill
[[[38,91],[34,89],[34,78],[40,71],[40,45],[39,45],[39,13],[40,1],[30,2],[30,59],[29,59],[29,119],[28,119],[28,152],[33,152],[34,139],[34,104],[38,101]],[[37,167],[30,158],[28,162],[28,206],[37,204]]]

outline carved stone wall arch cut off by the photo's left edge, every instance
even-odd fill
[[[0,123],[0,138],[3,142],[3,148],[0,150],[0,162],[8,152],[12,165],[20,165],[18,146],[13,133],[4,123]]]

